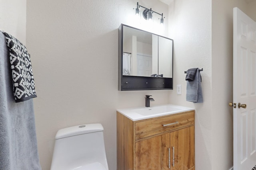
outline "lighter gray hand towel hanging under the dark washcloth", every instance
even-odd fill
[[[193,103],[202,103],[203,102],[203,93],[201,86],[201,74],[199,68],[196,69],[196,76],[193,81],[187,80],[187,93],[186,101]]]

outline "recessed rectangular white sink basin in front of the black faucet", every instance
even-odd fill
[[[143,115],[143,116],[148,116],[148,115],[154,115],[154,114],[161,114],[161,113],[166,113],[166,112],[173,112],[173,111],[180,111],[182,108],[175,107],[174,105],[164,105],[164,106],[155,106],[155,107],[145,107],[142,109],[133,109],[132,111]]]

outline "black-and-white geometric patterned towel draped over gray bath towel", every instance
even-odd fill
[[[30,55],[26,47],[12,35],[2,31],[10,51],[12,84],[15,102],[36,98]]]

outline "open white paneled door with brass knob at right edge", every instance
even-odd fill
[[[256,22],[238,8],[233,12],[234,170],[252,170],[256,165]],[[238,108],[238,103],[247,107]]]

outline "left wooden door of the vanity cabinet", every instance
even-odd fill
[[[135,170],[169,170],[170,133],[135,144]]]

